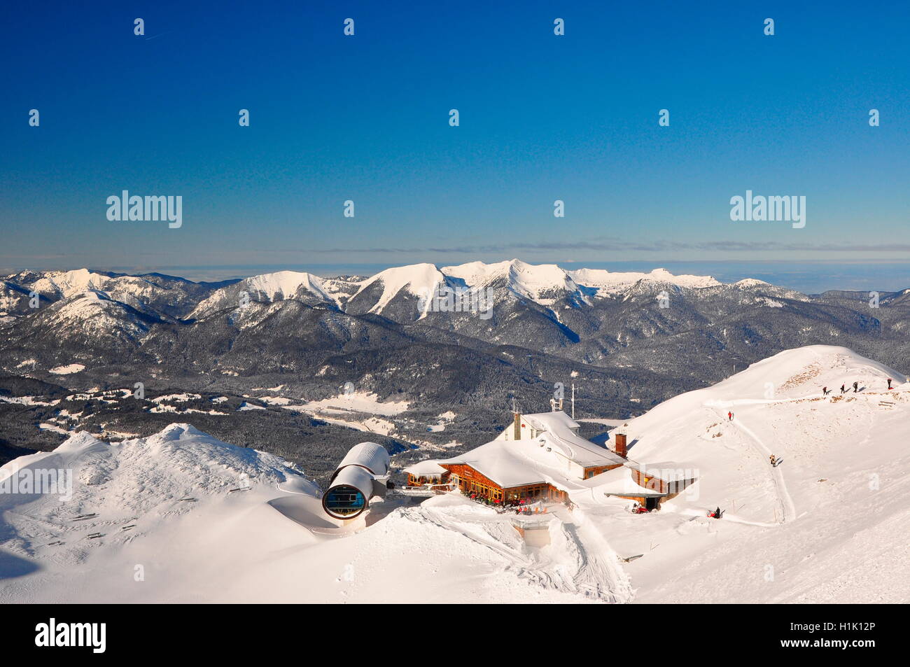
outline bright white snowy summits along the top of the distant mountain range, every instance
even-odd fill
[[[34,290],[49,301],[104,292],[106,297],[151,317],[164,314],[194,320],[207,318],[226,308],[238,308],[241,293],[245,292],[250,300],[267,304],[293,299],[309,306],[327,304],[355,315],[383,314],[400,321],[424,317],[426,312],[417,312],[415,304],[440,285],[501,289],[504,292],[496,294],[496,298],[511,295],[513,299],[553,308],[557,319],[561,308],[591,306],[595,298],[628,297],[667,286],[743,291],[763,288],[779,290],[779,296],[787,298],[804,298],[798,292],[773,288],[760,280],[742,280],[724,286],[710,276],[674,276],[663,268],[655,268],[650,273],[590,268],[567,271],[554,264],[533,265],[520,259],[491,264],[475,261],[441,269],[432,264],[413,264],[388,268],[369,278],[320,278],[308,272],[278,271],[221,286],[157,274],[123,276],[80,268],[40,273],[25,271],[6,278],[5,289],[0,293],[0,316],[32,312],[27,306],[28,295]]]

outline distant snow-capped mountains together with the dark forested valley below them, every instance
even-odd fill
[[[440,289],[482,291],[489,317],[429,307]],[[171,394],[202,397],[188,414],[222,440],[255,445],[269,429],[276,451],[309,465],[309,447],[339,423],[354,429],[345,441],[379,429],[402,448],[478,444],[513,397],[547,409],[556,383],[567,395],[577,385],[581,416],[628,418],[794,347],[835,341],[907,370],[910,293],[882,292],[875,306],[862,292],[518,259],[220,283],[25,271],[0,288],[0,462],[78,428],[150,435],[163,416],[151,399]],[[147,399],[123,399],[137,383]],[[356,410],[289,409],[349,391],[410,407],[380,425]],[[221,398],[230,402],[211,404]],[[458,439],[439,428],[449,413],[470,424]],[[326,474],[329,462],[319,465]]]

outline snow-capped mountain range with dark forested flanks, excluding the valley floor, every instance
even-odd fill
[[[0,367],[7,372],[38,357],[53,366],[88,360],[90,369],[98,356],[166,366],[192,359],[200,370],[238,376],[288,364],[303,371],[299,361],[275,359],[289,338],[336,354],[415,339],[517,346],[582,364],[668,375],[680,373],[680,356],[692,350],[702,359],[696,363],[704,379],[720,379],[737,363],[781,349],[832,339],[891,363],[910,351],[908,290],[882,292],[871,308],[861,292],[808,296],[760,280],[723,284],[662,268],[567,271],[512,259],[417,264],[369,278],[279,271],[224,283],[79,269],[26,271],[4,278],[3,286]],[[489,317],[428,307],[426,295],[446,288],[482,290]],[[193,349],[200,344],[207,349]],[[256,359],[248,358],[248,347],[258,349]],[[74,355],[95,359],[69,359]]]

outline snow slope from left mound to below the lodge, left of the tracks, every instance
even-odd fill
[[[407,510],[379,502],[369,529],[339,531],[299,470],[187,424],[118,444],[79,434],[6,464],[0,484],[24,469],[73,470],[75,489],[63,502],[0,494],[0,603],[573,601],[597,592],[596,579],[570,576],[560,588],[541,570],[558,577],[585,565],[568,532],[554,533],[566,545],[559,560],[541,561],[523,552],[508,517],[451,497]],[[621,576],[613,561],[587,568]]]

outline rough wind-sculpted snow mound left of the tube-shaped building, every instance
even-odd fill
[[[302,475],[285,460],[227,445],[188,424],[172,424],[149,438],[118,443],[77,433],[54,451],[6,463],[0,468],[0,484],[33,472],[37,479],[42,470],[67,471],[73,482],[71,499],[61,500],[58,490],[5,489],[0,493],[4,512],[0,547],[35,555],[46,553],[48,543],[65,541],[50,551],[55,558],[67,553],[77,560],[87,548],[101,543],[86,542],[92,534],[86,529],[106,531],[107,541],[122,542],[142,530],[121,532],[131,522],[154,523],[203,500],[223,499],[257,486],[275,489]],[[11,533],[15,537],[8,540]]]

